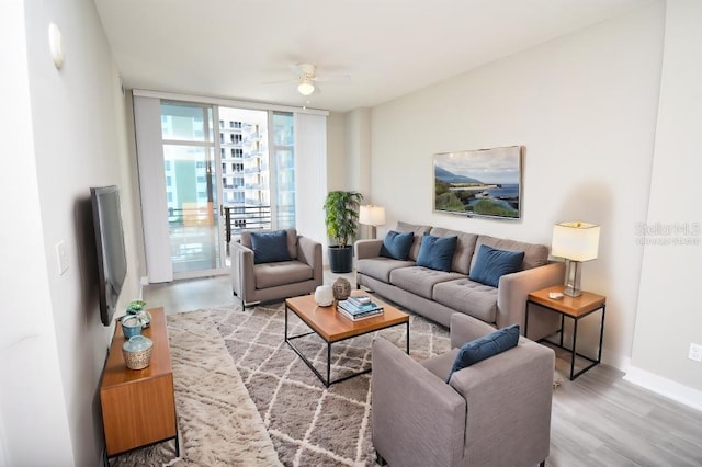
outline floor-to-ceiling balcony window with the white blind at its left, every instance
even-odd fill
[[[296,228],[295,113],[134,103],[149,282],[227,273],[241,232]]]

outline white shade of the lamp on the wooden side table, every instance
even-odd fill
[[[600,226],[587,223],[561,223],[553,226],[551,254],[573,261],[597,259]]]

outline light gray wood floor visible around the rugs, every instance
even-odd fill
[[[347,277],[353,284],[352,275]],[[336,275],[325,271],[325,283]],[[239,304],[229,276],[145,286],[166,312]],[[607,365],[554,390],[548,466],[702,466],[702,412],[622,379]]]

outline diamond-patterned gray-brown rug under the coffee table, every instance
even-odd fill
[[[375,464],[371,444],[370,374],[326,388],[284,342],[284,305],[253,310],[210,310],[225,340],[268,433],[285,466]],[[288,332],[309,329],[288,314]],[[410,356],[426,360],[450,348],[445,328],[410,315]],[[371,343],[383,337],[405,349],[406,327],[335,343],[331,378],[355,373],[371,364]],[[295,341],[315,367],[326,371],[326,343],[316,334]]]

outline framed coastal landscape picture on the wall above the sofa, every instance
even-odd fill
[[[522,147],[434,155],[434,212],[521,218]]]

